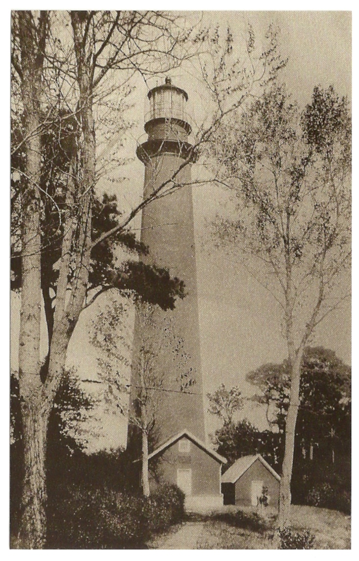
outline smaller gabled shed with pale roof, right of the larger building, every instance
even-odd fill
[[[224,504],[256,507],[266,488],[270,507],[279,505],[280,476],[260,455],[238,458],[222,475]]]

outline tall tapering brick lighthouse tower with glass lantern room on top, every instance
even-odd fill
[[[145,199],[171,179],[192,149],[188,143],[187,93],[167,77],[165,84],[149,91],[148,98],[148,140],[137,149],[137,157],[145,165]],[[168,269],[171,276],[185,282],[186,292],[183,300],[177,298],[176,309],[157,310],[154,318],[159,339],[163,338],[164,325],[171,325],[173,332],[172,347],[169,337],[155,357],[155,367],[163,373],[155,424],[161,441],[184,429],[205,440],[190,165],[181,169],[174,182],[171,194],[154,199],[142,210],[141,241],[149,247],[143,261]],[[140,321],[136,320],[135,353],[139,329]],[[191,384],[186,386],[189,380]],[[132,385],[136,385],[133,378]],[[131,397],[134,399],[134,392]]]

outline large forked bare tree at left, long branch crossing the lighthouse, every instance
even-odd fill
[[[26,480],[21,532],[26,547],[44,545],[47,423],[63,375],[68,343],[81,311],[102,290],[99,288],[86,302],[91,284],[91,256],[100,244],[126,232],[128,224],[146,204],[181,186],[177,180],[181,169],[193,162],[194,154],[211,139],[221,119],[240,107],[256,82],[258,72],[262,80],[263,69],[269,68],[275,73],[281,64],[274,56],[272,44],[263,53],[259,70],[253,67],[249,74],[242,73],[237,86],[226,91],[233,76],[233,65],[227,66],[232,48],[228,34],[223,56],[217,45],[215,54],[219,63],[214,65],[215,79],[212,80],[202,67],[204,79],[211,85],[216,110],[209,124],[200,127],[188,157],[178,164],[178,169],[167,181],[123,215],[116,225],[94,236],[93,202],[98,180],[96,104],[116,89],[118,82],[114,76],[122,76],[121,83],[126,83],[131,72],[140,73],[146,79],[146,76],[163,73],[192,56],[191,45],[196,49],[204,40],[216,44],[217,39],[211,42],[205,32],[191,37],[191,28],[180,25],[179,21],[178,16],[163,12],[13,13],[13,91],[15,97],[20,80],[17,116],[20,123],[20,113],[24,112],[25,126],[23,134],[12,146],[12,154],[17,158],[22,150],[26,153],[25,168],[20,170],[21,181],[16,182],[20,183],[21,196],[20,199],[17,193],[14,196],[15,203],[21,200],[22,228],[19,240],[22,264],[20,393],[24,399],[24,426],[29,425],[24,430]],[[61,33],[57,36],[58,30]],[[59,39],[60,36],[65,39]],[[248,55],[251,45],[252,39],[247,44]],[[46,67],[44,60],[47,61]],[[57,200],[48,185],[42,186],[40,139],[59,114],[62,114],[62,123],[69,123],[73,144],[71,149],[65,150],[66,162],[59,171],[61,185]],[[52,163],[52,158],[48,162]],[[57,216],[57,226],[50,240],[42,236],[40,228],[44,208],[40,194]],[[57,259],[48,270],[49,275],[53,275],[53,295],[46,298],[44,292],[49,352],[42,367],[39,356],[42,270],[47,252],[51,251],[56,252]]]

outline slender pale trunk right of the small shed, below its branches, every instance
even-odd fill
[[[289,513],[292,502],[291,480],[294,458],[294,440],[296,436],[296,424],[299,405],[299,389],[301,379],[301,356],[297,356],[292,366],[291,398],[286,418],[286,441],[284,446],[284,458],[282,465],[282,477],[279,489],[279,516],[278,526],[283,528],[288,524]]]

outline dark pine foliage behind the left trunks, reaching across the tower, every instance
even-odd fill
[[[43,144],[43,162],[48,165],[46,150],[54,149],[56,146],[57,134],[65,134],[54,126],[51,135],[46,138]],[[65,137],[66,138],[66,137]],[[59,142],[63,142],[61,138]],[[61,150],[60,150],[61,151]],[[49,329],[49,341],[52,337],[54,302],[56,302],[58,268],[56,266],[61,256],[61,243],[63,236],[63,224],[68,209],[63,193],[66,190],[65,178],[63,174],[68,173],[68,165],[59,169],[57,165],[62,165],[53,157],[50,165],[50,175],[43,172],[41,200],[43,206],[41,228],[42,243],[46,251],[42,253],[42,292],[47,313],[47,323]],[[70,160],[69,160],[70,161]],[[19,165],[19,164],[17,164]],[[21,163],[24,167],[24,163]],[[13,165],[13,171],[19,171]],[[21,172],[21,168],[20,168]],[[16,177],[16,176],[15,176]],[[13,180],[13,211],[12,224],[17,224],[21,220],[21,206],[19,205],[21,182]],[[49,202],[50,201],[50,202]],[[75,206],[80,204],[79,201]],[[19,216],[20,214],[20,216]],[[118,209],[116,195],[104,193],[101,197],[94,195],[92,208],[92,232],[91,238],[96,241],[104,232],[115,228],[119,224],[122,212]],[[20,234],[20,231],[19,231]],[[19,235],[15,232],[12,236],[12,258],[11,258],[11,288],[21,288],[21,251],[19,249]],[[118,263],[118,250],[122,249],[127,257],[125,261]],[[145,264],[142,261],[128,259],[128,254],[145,255],[148,248],[136,239],[133,232],[128,229],[120,229],[111,239],[106,238],[100,243],[94,244],[91,251],[90,269],[87,294],[89,302],[110,288],[116,288],[119,294],[127,297],[139,298],[151,304],[158,304],[164,310],[174,309],[176,297],[185,296],[185,285],[177,277],[171,278],[168,270],[159,268],[156,265]],[[68,281],[71,282],[75,270],[75,263],[70,263]]]

